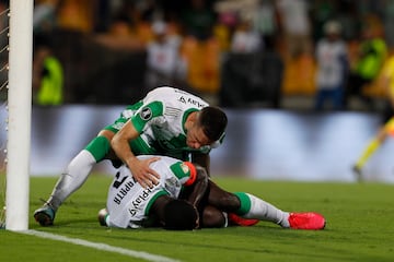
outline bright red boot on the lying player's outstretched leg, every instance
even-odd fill
[[[320,230],[324,229],[326,221],[321,214],[314,212],[290,213],[289,224],[292,229]]]

